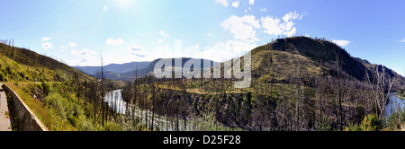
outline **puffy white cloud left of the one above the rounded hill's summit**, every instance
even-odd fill
[[[227,20],[220,23],[224,31],[234,34],[234,39],[240,39],[246,42],[257,41],[256,31],[260,28],[258,20],[253,15],[238,17],[231,15]]]

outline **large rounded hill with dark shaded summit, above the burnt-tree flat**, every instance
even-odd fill
[[[366,73],[373,79],[376,70],[385,69],[386,76],[404,85],[405,78],[392,69],[374,65],[367,60],[352,57],[347,51],[326,39],[292,37],[276,39],[252,51],[252,74],[263,77],[273,75],[315,75],[353,77],[365,81]],[[297,76],[298,77],[298,76]]]

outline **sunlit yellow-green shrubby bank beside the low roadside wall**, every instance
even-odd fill
[[[100,113],[94,119],[93,105],[74,85],[63,83],[6,83],[50,131],[121,131],[123,122],[109,120],[102,127]],[[38,93],[40,91],[40,93]],[[40,94],[40,95],[38,95]],[[40,97],[40,98],[39,98]],[[97,115],[98,114],[98,115]],[[95,120],[95,122],[94,122]],[[129,125],[129,124],[126,124]],[[128,129],[133,130],[133,129]]]

